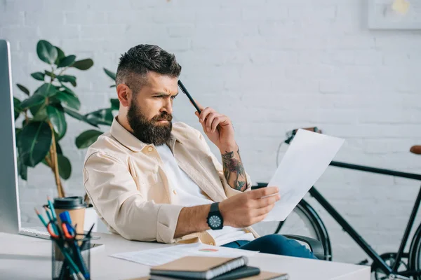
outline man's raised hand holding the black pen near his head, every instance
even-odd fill
[[[221,151],[237,151],[238,147],[234,139],[234,128],[231,120],[210,107],[203,108],[197,103],[201,113],[194,112],[199,118],[203,132]]]

